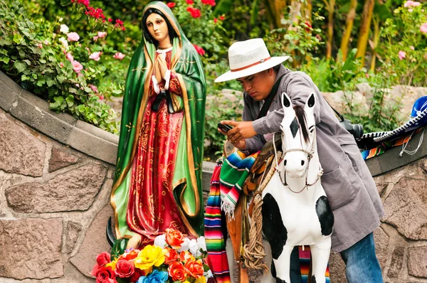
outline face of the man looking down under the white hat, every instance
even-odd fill
[[[237,79],[241,83],[243,90],[256,101],[265,100],[268,97],[273,88],[274,80],[275,73],[273,68]]]

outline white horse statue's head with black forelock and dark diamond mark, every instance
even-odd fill
[[[315,152],[315,103],[315,95],[312,93],[304,108],[294,106],[283,92],[284,117],[280,124],[283,132],[283,166],[290,178],[300,178],[307,173],[307,166]]]

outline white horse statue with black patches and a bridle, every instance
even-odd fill
[[[276,282],[290,283],[290,254],[297,245],[310,246],[311,282],[325,282],[334,215],[320,183],[315,104],[312,94],[304,108],[293,107],[283,93],[283,157],[278,163],[276,155],[276,171],[262,193],[263,234],[270,243]]]

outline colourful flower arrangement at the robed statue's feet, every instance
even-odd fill
[[[142,250],[125,250],[117,258],[100,253],[92,274],[97,283],[206,283],[212,276],[206,257],[204,237],[190,240],[167,229]]]

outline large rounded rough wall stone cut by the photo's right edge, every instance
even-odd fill
[[[426,188],[427,180],[402,177],[384,201],[384,222],[411,240],[427,240]]]

